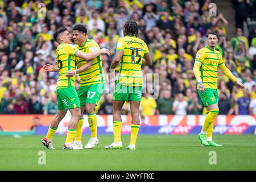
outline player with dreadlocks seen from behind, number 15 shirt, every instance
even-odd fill
[[[146,43],[138,38],[138,24],[127,21],[123,26],[123,38],[119,38],[117,52],[115,53],[109,69],[109,81],[114,81],[110,71],[117,68],[120,63],[119,76],[113,94],[113,130],[114,142],[106,149],[122,148],[121,142],[121,110],[123,104],[130,102],[131,109],[131,138],[126,148],[135,150],[135,142],[139,131],[139,105],[142,95],[142,69],[141,65],[152,65],[152,59]]]

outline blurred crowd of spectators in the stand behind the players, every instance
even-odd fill
[[[139,37],[148,45],[154,61],[152,67],[142,66],[142,116],[204,114],[192,68],[209,31],[218,33],[216,49],[246,86],[242,92],[221,71],[218,73],[220,114],[256,114],[256,30],[249,26],[256,20],[255,2],[233,1],[236,35],[228,39],[229,22],[221,12],[209,16],[209,0],[0,1],[0,114],[56,113],[58,73],[44,72],[42,67],[56,65],[57,43],[52,35],[60,26],[72,32],[73,24],[84,23],[87,37],[110,49],[109,57],[102,56],[108,78],[126,20],[138,23]],[[243,21],[248,24],[248,36],[243,35]],[[107,82],[96,113],[112,114],[113,86]],[[130,113],[129,103],[122,113]]]

